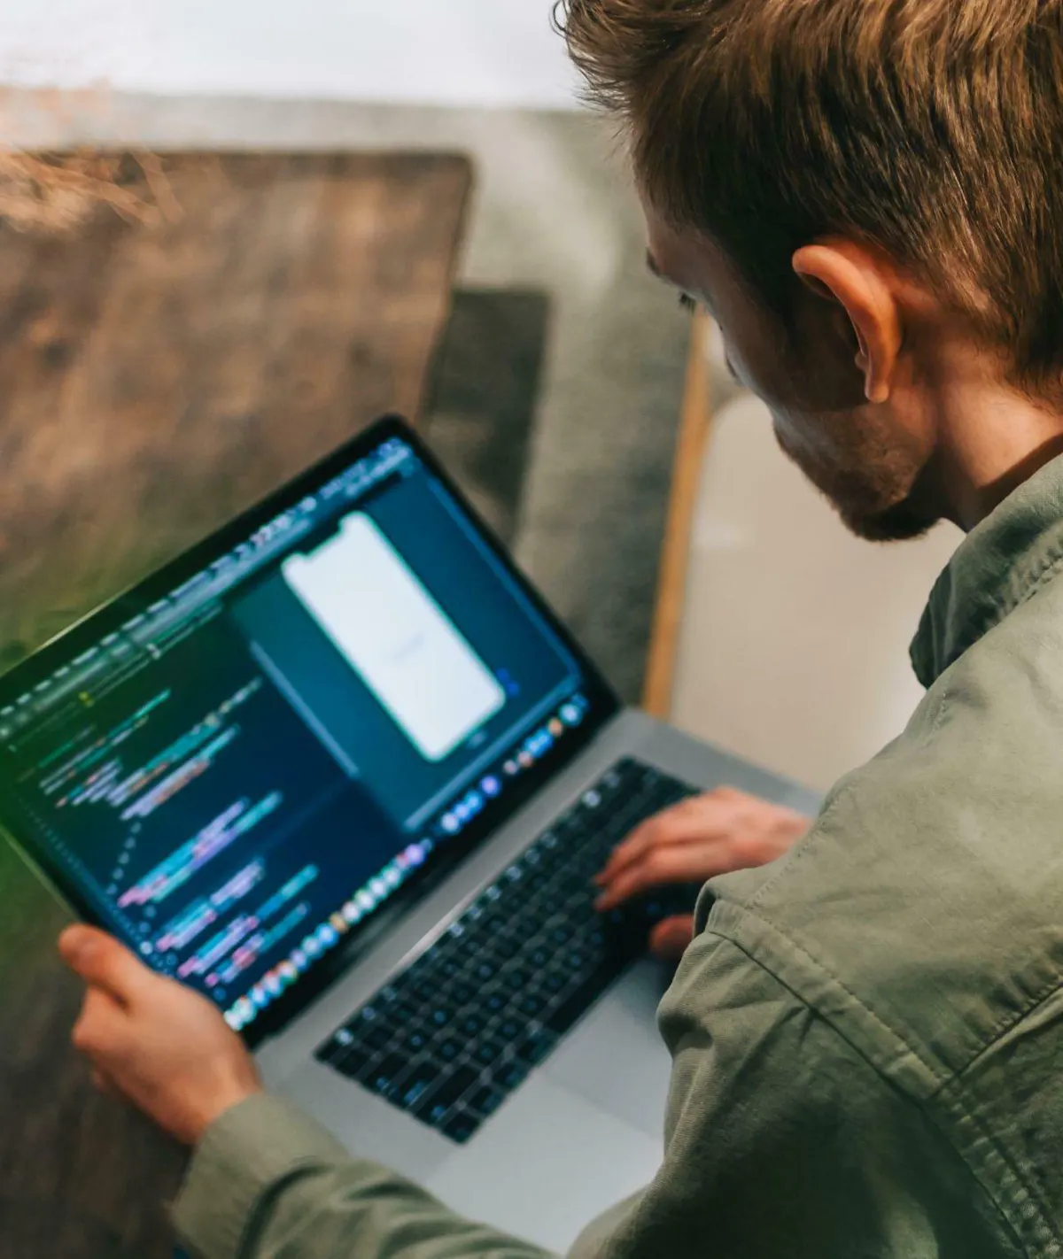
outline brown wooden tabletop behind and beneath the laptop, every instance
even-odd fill
[[[424,393],[465,159],[185,154],[164,175],[155,224],[0,227],[4,663]],[[69,1050],[64,920],[0,845],[0,1254],[161,1259],[183,1156]]]

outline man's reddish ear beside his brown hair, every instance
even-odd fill
[[[901,311],[889,272],[851,240],[820,240],[793,254],[793,271],[819,297],[846,313],[856,335],[856,366],[868,402],[888,402],[901,354]]]

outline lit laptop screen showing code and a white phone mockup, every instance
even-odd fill
[[[412,434],[374,433],[0,694],[0,820],[237,1030],[615,711]]]

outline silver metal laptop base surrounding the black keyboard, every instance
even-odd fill
[[[814,812],[807,791],[626,710],[311,1010],[258,1054],[267,1081],[351,1151],[448,1206],[563,1251],[589,1220],[647,1185],[662,1157],[671,1063],[656,1026],[669,972],[630,968],[471,1138],[456,1146],[314,1059],[335,1027],[422,951],[477,891],[617,760],[691,786],[727,784]]]

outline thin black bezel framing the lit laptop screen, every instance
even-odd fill
[[[306,971],[298,983],[262,1011],[243,1031],[243,1036],[251,1046],[261,1044],[261,1041],[283,1029],[310,1002],[316,1000],[325,988],[339,980],[354,964],[358,957],[364,956],[382,934],[395,925],[401,918],[406,917],[414,904],[422,901],[465,859],[482,847],[487,838],[553,779],[560,769],[571,764],[602,726],[621,711],[622,704],[616,692],[564,627],[557,613],[553,612],[545,599],[521,574],[510,558],[505,544],[486,521],[481,519],[424,441],[399,415],[387,415],[377,421],[377,423],[356,434],[307,471],[297,475],[230,522],[223,525],[203,541],[194,544],[144,580],[88,613],[84,618],[34,651],[0,677],[0,709],[3,709],[15,703],[20,695],[26,694],[38,682],[50,677],[57,669],[71,663],[82,652],[99,642],[101,638],[115,632],[132,617],[188,582],[219,556],[225,555],[234,546],[246,541],[277,515],[293,507],[309,495],[315,494],[315,491],[330,482],[350,465],[370,454],[374,448],[390,438],[399,438],[413,448],[428,475],[437,478],[453,497],[461,512],[505,568],[524,598],[576,660],[583,677],[583,694],[589,700],[589,713],[582,726],[571,731],[542,760],[511,784],[504,802],[497,802],[503,807],[492,810],[482,818],[477,818],[460,836],[456,836],[443,846],[438,846],[424,866],[409,878],[374,914],[365,919],[361,929],[354,930],[349,937],[345,937],[339,947],[326,953]],[[5,818],[3,815],[0,815],[0,828],[3,828],[16,847],[21,849],[30,857],[79,918],[98,924],[99,919],[97,914],[81,894],[78,885],[34,835],[23,832],[21,828],[13,825],[10,818]],[[340,899],[341,893],[338,891],[338,900]]]

